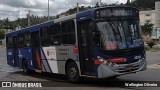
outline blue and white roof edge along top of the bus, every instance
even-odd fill
[[[22,32],[26,32],[26,31],[30,31],[30,32],[36,31],[40,27],[51,25],[51,24],[54,24],[54,23],[57,23],[57,22],[62,22],[62,21],[69,20],[69,19],[76,18],[77,21],[79,21],[81,19],[91,18],[94,15],[94,11],[97,10],[97,9],[116,8],[116,7],[137,9],[135,7],[130,7],[130,6],[107,6],[107,7],[92,8],[92,9],[89,9],[89,10],[78,12],[76,14],[72,14],[72,15],[69,15],[69,16],[64,16],[64,17],[61,17],[61,18],[58,18],[58,19],[55,19],[55,20],[51,20],[51,21],[47,21],[47,22],[44,22],[44,23],[34,25],[34,26],[26,27],[26,28],[20,29],[20,30],[15,31],[15,32],[10,32],[10,33],[7,33],[6,35],[7,36],[8,35],[16,35],[17,33],[22,33]]]

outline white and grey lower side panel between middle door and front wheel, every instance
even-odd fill
[[[74,60],[78,68],[80,67],[78,54],[74,53],[73,46],[43,47],[41,58],[43,70],[47,72],[65,74],[65,64],[69,59]]]

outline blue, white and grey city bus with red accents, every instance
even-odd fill
[[[146,70],[139,11],[101,7],[6,34],[7,62],[23,72],[108,78]]]

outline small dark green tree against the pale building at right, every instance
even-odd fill
[[[148,22],[141,26],[142,33],[144,35],[151,35],[152,28],[153,24]]]

